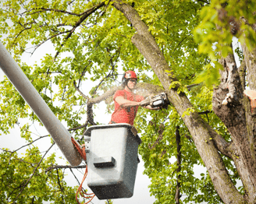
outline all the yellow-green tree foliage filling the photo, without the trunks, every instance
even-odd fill
[[[83,12],[99,2],[102,1],[0,2],[0,37],[3,37],[3,44],[16,62],[19,62],[21,69],[53,113],[68,128],[83,125],[83,117],[87,114],[87,98],[76,91],[75,85],[80,88],[93,82],[95,86],[87,90],[87,97],[98,97],[115,85],[117,74],[120,74],[118,66],[123,66],[123,71],[135,70],[140,82],[162,86],[148,62],[131,43],[131,37],[136,31],[123,13],[113,7],[112,2],[105,1],[104,6],[80,22]],[[123,2],[132,5],[134,1]],[[223,3],[226,3],[225,7],[222,6]],[[173,76],[178,79],[169,88],[178,88],[179,93],[187,93],[194,105],[193,109],[184,114],[209,111],[208,114],[201,114],[201,118],[227,141],[230,135],[226,127],[211,112],[212,85],[219,83],[219,69],[222,67],[218,59],[232,52],[229,44],[233,36],[241,43],[246,43],[250,49],[255,47],[256,37],[250,26],[250,23],[254,23],[255,6],[252,1],[245,3],[232,0],[138,0],[134,5],[164,54]],[[240,16],[244,16],[248,24],[242,23],[236,30],[229,20],[233,19],[233,23],[236,23]],[[77,23],[80,24],[76,27]],[[33,48],[37,51],[41,44],[54,47],[54,54],[49,51],[41,56],[41,62],[33,66],[22,62],[25,51],[33,53]],[[239,51],[237,53],[242,58],[242,54]],[[192,83],[200,84],[188,92],[186,86]],[[108,111],[112,111],[112,104],[108,105]],[[5,78],[0,82],[0,131],[9,133],[9,129],[20,118],[30,121],[21,128],[21,137],[31,142],[30,124],[39,119],[12,83]],[[203,163],[190,132],[174,107],[170,106],[167,111],[146,111],[140,108],[135,126],[143,141],[139,151],[145,162],[144,174],[152,181],[149,188],[151,195],[156,198],[155,203],[175,202],[178,175],[181,194],[186,195],[181,198],[181,203],[221,202],[208,174],[194,174],[194,167],[203,166]],[[182,146],[182,167],[179,174],[176,172],[177,126],[180,126]],[[78,139],[83,132],[84,129],[77,129],[72,133]],[[41,154],[37,147],[33,147],[27,149],[25,157],[8,152],[1,153],[0,157],[1,199],[11,202],[15,199],[15,192],[31,176]],[[20,160],[25,162],[20,163]],[[230,160],[225,157],[223,160],[233,182],[236,182],[236,169]],[[64,190],[59,186],[56,171],[44,172],[52,164],[55,164],[54,155],[44,160],[38,168],[30,185],[23,192],[24,196],[19,197],[20,203],[30,202],[32,199],[37,203],[63,203],[62,199],[67,203],[75,202],[75,189],[66,185],[62,179],[62,171],[59,171],[59,178]],[[243,188],[240,191],[243,192]]]

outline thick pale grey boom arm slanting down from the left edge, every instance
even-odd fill
[[[56,142],[61,149],[62,153],[72,166],[78,166],[82,158],[76,151],[71,141],[71,135],[62,125],[62,123],[52,113],[51,109],[45,104],[37,90],[27,79],[27,76],[20,69],[19,65],[14,61],[9,52],[5,49],[0,42],[0,67],[5,75],[9,78],[16,90],[26,100],[27,104],[32,108],[37,117],[44,124],[52,139]]]

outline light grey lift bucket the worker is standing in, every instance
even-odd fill
[[[91,126],[87,150],[87,185],[98,199],[121,199],[133,196],[137,174],[137,150],[141,142],[137,130],[126,123]]]

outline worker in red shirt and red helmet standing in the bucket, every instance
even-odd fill
[[[127,71],[123,74],[122,85],[123,90],[117,90],[113,100],[115,102],[115,111],[112,113],[112,118],[109,124],[128,123],[133,125],[134,118],[137,114],[137,109],[140,106],[140,101],[144,97],[133,93],[137,84],[137,76],[133,71]],[[151,110],[158,110],[150,105],[143,106]]]

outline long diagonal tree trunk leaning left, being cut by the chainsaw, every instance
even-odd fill
[[[158,79],[164,86],[169,100],[180,116],[189,109],[193,109],[192,104],[184,93],[177,93],[176,89],[169,89],[170,84],[175,80],[173,76],[169,76],[165,70],[170,70],[169,65],[165,61],[162,52],[156,46],[155,40],[148,32],[148,27],[140,20],[140,16],[130,5],[126,5],[120,0],[112,1],[116,9],[119,9],[133,24],[137,33],[132,37],[133,44],[138,48],[144,58],[148,60],[151,68],[154,70]],[[191,112],[190,115],[182,117],[187,128],[192,135],[198,153],[201,155],[208,173],[212,178],[212,182],[216,191],[225,203],[244,203],[243,195],[237,192],[233,182],[231,181],[226,167],[219,155],[219,151],[231,157],[226,147],[229,144],[222,139],[212,128],[204,122],[197,112]],[[218,148],[216,147],[218,146]]]

